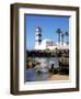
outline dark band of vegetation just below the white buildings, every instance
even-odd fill
[[[69,50],[33,50],[26,51],[27,57],[69,57]]]

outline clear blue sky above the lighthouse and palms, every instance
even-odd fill
[[[35,28],[42,28],[42,38],[53,40],[57,42],[56,30],[60,28],[62,32],[69,32],[69,18],[66,16],[43,16],[43,15],[25,15],[26,21],[26,50],[34,50],[35,46]]]

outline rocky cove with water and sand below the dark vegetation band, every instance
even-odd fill
[[[68,57],[28,57],[26,61],[26,81],[68,80]],[[60,64],[60,62],[62,62]]]

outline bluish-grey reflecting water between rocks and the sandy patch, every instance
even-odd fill
[[[40,63],[36,65],[33,69],[26,70],[26,81],[43,81],[49,78],[49,68],[51,65],[57,68],[58,58],[57,57],[36,57],[32,58],[34,62]]]

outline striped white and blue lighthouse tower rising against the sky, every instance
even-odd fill
[[[37,26],[35,29],[35,47],[38,47],[42,44],[42,29]]]

